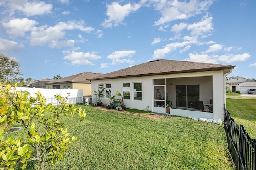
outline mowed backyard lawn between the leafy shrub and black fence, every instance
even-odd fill
[[[235,169],[224,125],[175,116],[156,120],[82,107],[86,109],[84,121],[77,115],[62,119],[78,140],[60,164],[45,169]]]

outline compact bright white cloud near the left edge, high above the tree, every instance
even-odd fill
[[[6,32],[11,36],[23,37],[26,32],[32,30],[34,25],[39,24],[34,20],[29,20],[28,18],[16,18],[8,22],[4,22],[3,26],[6,28]]]

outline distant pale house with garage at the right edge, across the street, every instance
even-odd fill
[[[240,93],[246,93],[247,89],[256,89],[256,81],[243,77],[233,77],[226,80],[226,87],[229,87],[232,92],[239,90]]]

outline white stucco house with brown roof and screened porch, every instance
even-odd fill
[[[104,95],[130,93],[124,97],[128,108],[183,117],[224,119],[225,77],[235,66],[159,59],[121,69],[92,81],[92,90],[106,88]],[[116,97],[118,98],[118,97]],[[197,109],[196,101],[212,104],[212,113]],[[96,96],[92,93],[92,102]],[[108,99],[102,97],[103,105]]]

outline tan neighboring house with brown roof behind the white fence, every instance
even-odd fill
[[[45,83],[46,89],[83,89],[83,95],[92,94],[91,82],[87,79],[102,75],[100,73],[84,72]]]

